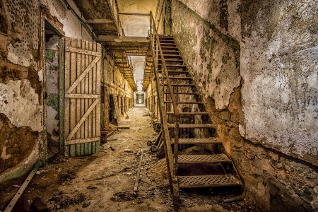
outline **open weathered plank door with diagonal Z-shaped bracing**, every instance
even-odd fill
[[[98,43],[65,39],[65,155],[100,151],[101,52]]]

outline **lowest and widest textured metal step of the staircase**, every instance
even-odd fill
[[[242,186],[234,175],[179,176],[179,188]]]

